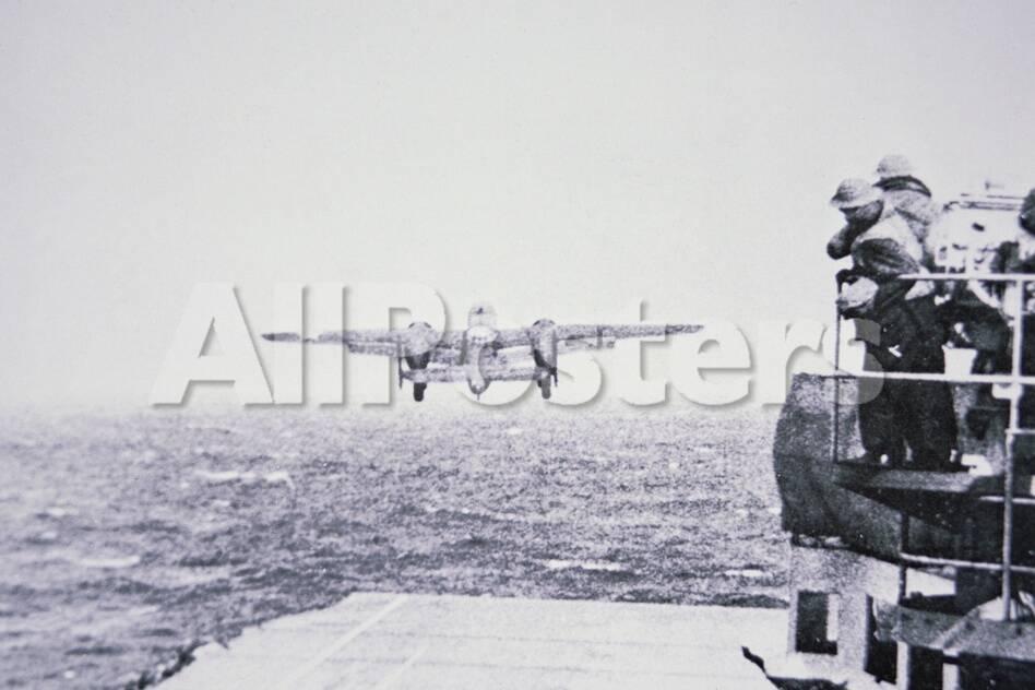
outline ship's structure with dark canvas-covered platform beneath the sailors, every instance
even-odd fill
[[[1016,326],[1031,318],[1024,288],[1035,274],[989,273],[986,247],[975,246],[992,245],[997,226],[1015,233],[1009,219],[1019,202],[955,200],[941,228],[944,272],[904,276],[943,293],[963,285],[972,297],[1007,295],[1009,371],[848,374],[835,366],[831,376],[795,378],[774,445],[793,535],[788,655],[766,659],[777,685],[1035,688],[1035,429],[1021,424],[1022,392],[1035,376],[1023,370]],[[961,241],[960,230],[978,241]],[[852,401],[870,378],[952,384],[961,430],[953,466],[861,461]],[[976,433],[967,415],[988,401],[988,424]]]

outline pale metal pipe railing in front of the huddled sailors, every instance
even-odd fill
[[[1002,497],[985,497],[995,502],[1002,502],[1002,558],[1000,563],[983,563],[978,561],[965,561],[956,559],[931,558],[913,554],[902,552],[901,562],[912,562],[917,566],[951,566],[957,568],[972,568],[976,570],[991,570],[1002,572],[1002,605],[1003,620],[1011,620],[1013,610],[1011,603],[1013,600],[1013,578],[1012,574],[1025,573],[1035,574],[1035,568],[1016,566],[1013,563],[1013,508],[1014,502],[1030,504],[1030,499],[1015,499],[1013,495],[1013,485],[1015,481],[1015,455],[1018,451],[1018,441],[1025,436],[1035,436],[1035,429],[1022,428],[1020,426],[1021,395],[1024,386],[1035,388],[1035,376],[1023,376],[1021,371],[1022,350],[1024,347],[1024,289],[1028,283],[1035,284],[1035,274],[1032,273],[911,273],[897,276],[900,281],[933,281],[933,282],[971,282],[978,281],[983,283],[1012,283],[1015,286],[1013,304],[1010,305],[1010,313],[1013,316],[1012,328],[1012,353],[1011,368],[1009,374],[954,374],[945,373],[909,373],[909,372],[872,372],[862,371],[850,373],[841,370],[841,312],[835,314],[834,328],[834,417],[831,432],[831,453],[832,460],[838,462],[840,451],[840,406],[841,406],[841,380],[842,379],[878,379],[878,380],[900,380],[900,381],[929,381],[940,383],[961,383],[961,384],[1000,384],[1011,386],[1010,412],[1003,439],[1003,484]],[[908,520],[903,520],[902,530],[908,531]],[[901,535],[904,539],[905,534]],[[906,544],[902,540],[902,544]]]

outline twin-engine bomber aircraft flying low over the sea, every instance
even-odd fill
[[[418,321],[405,329],[330,331],[317,337],[298,333],[263,333],[273,342],[336,344],[350,353],[394,357],[398,385],[414,384],[414,400],[424,400],[429,383],[465,381],[476,396],[492,381],[535,381],[544,398],[557,385],[557,358],[580,349],[615,346],[620,338],[693,333],[697,324],[557,324],[539,319],[525,329],[500,329],[490,305],[475,305],[463,331],[439,333]],[[531,358],[530,358],[531,356]],[[403,362],[406,368],[403,368]]]

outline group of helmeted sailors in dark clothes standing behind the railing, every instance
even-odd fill
[[[879,330],[864,338],[864,369],[944,373],[942,346],[953,336],[976,350],[972,373],[1009,373],[1012,329],[1020,328],[1021,373],[1035,376],[1035,317],[1023,317],[1020,326],[1013,323],[1010,308],[1002,307],[1007,284],[901,277],[943,271],[936,264],[931,238],[942,207],[904,156],[885,156],[877,177],[876,182],[846,179],[837,187],[830,203],[846,223],[826,245],[832,259],[852,259],[852,267],[836,276],[841,317],[876,323]],[[991,253],[985,269],[989,273],[1035,273],[1035,189],[1021,204],[1016,237]],[[1035,296],[1035,285],[1030,289]],[[1007,409],[985,385],[966,425],[972,433],[984,436],[990,421]],[[1035,390],[1024,389],[1020,413],[1019,426],[1035,427]],[[858,417],[867,462],[914,469],[960,468],[948,383],[884,379],[879,393],[858,406]]]

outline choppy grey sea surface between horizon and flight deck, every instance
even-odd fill
[[[773,428],[758,411],[8,414],[0,681],[135,687],[357,590],[782,606]]]

